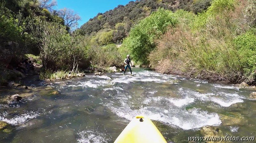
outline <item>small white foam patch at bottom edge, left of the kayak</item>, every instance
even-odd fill
[[[109,135],[90,129],[79,132],[78,136],[78,143],[108,143],[111,141]]]

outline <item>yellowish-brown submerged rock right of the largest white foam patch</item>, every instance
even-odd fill
[[[245,117],[238,112],[225,112],[219,116],[222,125],[242,125],[247,122]]]

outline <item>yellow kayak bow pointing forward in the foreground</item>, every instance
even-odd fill
[[[114,143],[167,143],[167,141],[148,117],[136,116]]]

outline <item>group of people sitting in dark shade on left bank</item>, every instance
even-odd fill
[[[32,61],[22,58],[16,70],[26,75],[30,72],[30,70],[34,70],[34,69],[35,69],[35,66],[32,64]]]

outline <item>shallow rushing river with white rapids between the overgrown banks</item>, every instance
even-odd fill
[[[155,120],[163,136],[176,143],[187,143],[205,125],[218,127],[224,136],[256,136],[256,101],[249,100],[253,90],[132,70],[135,76],[128,71],[126,76],[119,72],[28,81],[33,89],[25,92],[31,96],[0,104],[0,121],[11,125],[10,132],[0,131],[0,142],[113,143],[141,114]],[[60,94],[51,94],[56,90]],[[21,92],[2,88],[1,99]]]

